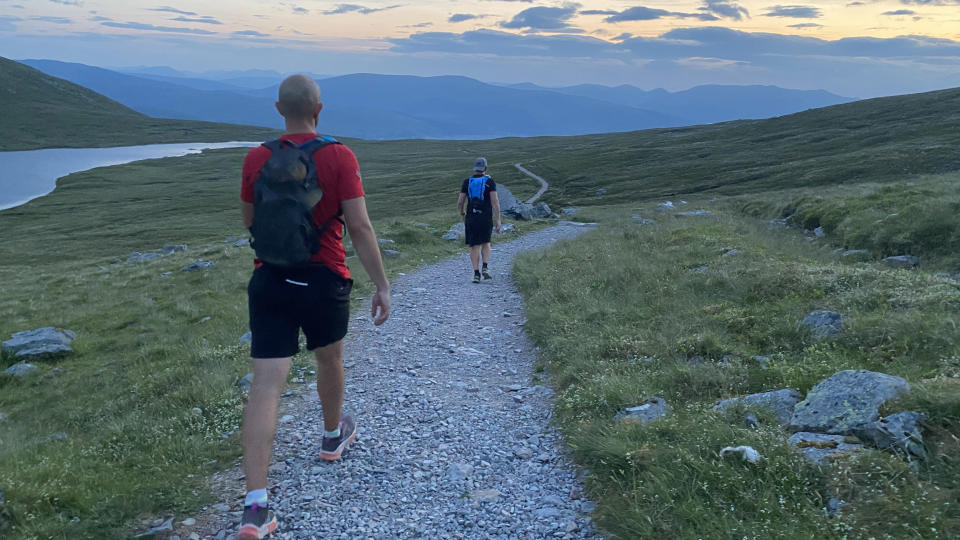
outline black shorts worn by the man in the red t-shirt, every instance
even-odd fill
[[[247,286],[253,358],[285,358],[336,343],[347,335],[353,280],[316,265],[287,269],[261,266]]]

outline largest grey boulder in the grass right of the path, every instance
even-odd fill
[[[793,431],[853,434],[879,418],[878,409],[910,390],[900,377],[866,370],[840,371],[821,381],[794,408]]]

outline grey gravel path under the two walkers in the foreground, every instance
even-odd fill
[[[340,461],[322,462],[312,385],[281,404],[275,537],[598,537],[594,505],[548,425],[553,392],[532,382],[536,355],[510,279],[518,252],[588,229],[560,222],[495,245],[494,279],[481,284],[470,283],[466,254],[401,277],[384,327],[354,314],[344,409],[358,440]],[[225,488],[239,494],[234,474]],[[241,505],[215,505],[195,532],[229,538]]]

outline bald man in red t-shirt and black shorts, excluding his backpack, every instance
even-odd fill
[[[302,145],[317,137],[320,89],[313,79],[294,75],[280,85],[277,111],[286,122],[281,140]],[[254,219],[254,184],[271,150],[254,148],[243,163],[240,198],[244,225]],[[324,437],[320,457],[333,461],[356,437],[356,423],[342,414],[343,342],[349,319],[350,270],[343,247],[343,224],[350,231],[364,270],[376,285],[371,315],[383,324],[390,315],[390,285],[364,199],[357,158],[345,145],[321,147],[313,155],[323,198],[313,210],[321,230],[320,250],[305,267],[280,267],[255,260],[248,286],[253,336],[253,384],[243,420],[243,461],[247,498],[237,540],[259,540],[277,527],[267,498],[267,470],[276,431],[277,402],[287,381],[291,357],[299,350],[299,333],[317,359],[317,393],[323,405]],[[342,221],[340,217],[342,216]],[[254,238],[256,243],[256,238]]]

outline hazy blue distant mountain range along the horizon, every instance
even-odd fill
[[[121,73],[84,64],[24,60],[49,75],[143,114],[282,127],[273,103],[279,74],[184,74],[170,68]],[[257,88],[262,83],[265,87]],[[545,88],[467,77],[355,74],[319,81],[321,130],[366,139],[487,139],[579,135],[765,118],[852,101],[825,91],[703,86],[684,92],[633,86]]]

